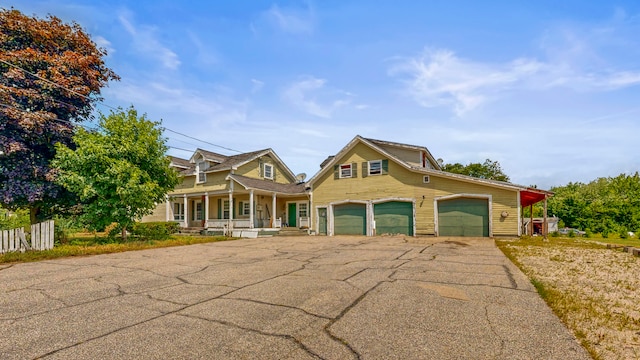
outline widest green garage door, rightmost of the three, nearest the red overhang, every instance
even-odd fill
[[[489,202],[459,198],[438,201],[440,236],[489,236]]]

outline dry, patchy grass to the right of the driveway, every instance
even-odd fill
[[[640,258],[582,239],[496,243],[595,359],[640,358]]]

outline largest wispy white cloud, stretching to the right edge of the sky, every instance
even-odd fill
[[[617,10],[601,24],[556,24],[540,37],[538,57],[490,63],[448,49],[396,58],[391,76],[421,106],[449,107],[458,116],[518,90],[566,88],[614,91],[640,85],[640,17]]]

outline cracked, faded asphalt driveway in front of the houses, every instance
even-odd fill
[[[274,237],[0,265],[0,359],[589,359],[487,239]]]

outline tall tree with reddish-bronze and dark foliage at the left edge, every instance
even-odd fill
[[[49,216],[75,199],[53,181],[54,144],[72,145],[73,123],[91,117],[118,76],[82,28],[55,16],[0,9],[0,205]]]

